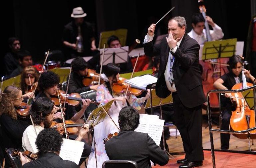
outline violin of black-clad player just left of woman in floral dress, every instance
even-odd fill
[[[99,80],[99,74],[97,74],[95,70],[88,69],[87,76],[83,78],[82,83],[85,86],[89,86],[89,85],[98,84],[98,80]],[[101,79],[100,84],[103,84],[103,83],[104,83],[104,80]]]

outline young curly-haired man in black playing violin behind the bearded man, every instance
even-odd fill
[[[60,77],[52,71],[47,71],[42,73],[38,81],[38,86],[40,93],[37,95],[36,99],[39,97],[48,97],[51,98],[57,94],[58,84],[60,83]],[[57,95],[58,96],[58,95]],[[82,99],[82,108],[80,111],[76,111],[74,106],[65,105],[65,120],[77,121],[83,116],[86,108],[89,106],[91,100]],[[61,112],[57,112],[54,115],[54,118],[59,118],[62,120]]]

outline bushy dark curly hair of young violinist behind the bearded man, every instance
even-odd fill
[[[43,72],[41,77],[38,80],[38,86],[41,91],[53,87],[56,84],[60,83],[59,75],[55,74],[52,71]]]

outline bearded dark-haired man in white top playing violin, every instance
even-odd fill
[[[36,147],[37,135],[39,135],[39,133],[45,128],[50,128],[54,120],[54,113],[57,110],[58,108],[54,106],[54,103],[47,97],[40,97],[36,99],[35,102],[33,102],[29,114],[31,115],[32,120],[34,121],[35,128],[33,127],[33,125],[30,125],[24,131],[22,137],[22,147],[24,150],[31,151],[32,153],[38,152],[38,148]],[[74,140],[81,141],[83,136],[86,135],[88,131],[89,125],[85,124],[83,128],[80,129],[78,136]],[[71,139],[71,137],[69,137],[69,139]],[[51,143],[54,143],[54,141]],[[82,156],[88,156],[90,150],[91,149],[89,145],[85,142]],[[79,163],[81,164],[82,162],[83,159],[80,160]]]

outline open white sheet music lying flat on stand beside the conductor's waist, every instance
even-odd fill
[[[143,75],[126,80],[125,83],[130,84],[132,87],[146,90],[148,84],[154,84],[157,82],[157,78],[152,75]]]

